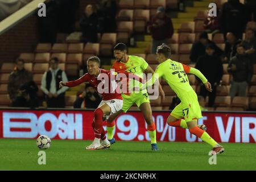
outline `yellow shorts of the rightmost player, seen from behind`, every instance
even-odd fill
[[[192,91],[180,98],[181,102],[172,110],[171,115],[177,119],[184,118],[186,122],[202,118],[201,108],[197,94]]]

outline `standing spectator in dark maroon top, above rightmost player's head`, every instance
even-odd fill
[[[163,43],[168,44],[168,39],[174,34],[172,20],[164,11],[164,7],[158,7],[157,14],[148,27],[152,35],[151,53],[155,53],[156,48]]]

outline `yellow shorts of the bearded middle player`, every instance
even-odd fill
[[[136,105],[139,107],[145,102],[150,102],[150,99],[147,93],[133,93],[130,96],[127,96],[126,94],[122,93],[122,98],[123,98],[122,110],[124,113],[126,113],[127,110],[129,110],[134,103],[136,103]]]

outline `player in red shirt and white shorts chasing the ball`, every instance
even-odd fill
[[[90,57],[87,60],[88,73],[75,81],[63,82],[60,81],[60,88],[63,86],[73,87],[82,84],[83,82],[89,82],[98,93],[102,94],[102,101],[98,108],[94,111],[94,119],[92,127],[94,130],[94,141],[88,147],[87,150],[98,150],[110,147],[110,142],[106,139],[105,130],[102,127],[102,118],[107,117],[113,113],[117,113],[122,109],[123,100],[121,91],[116,82],[117,73],[100,69],[100,59],[97,56]],[[135,76],[131,73],[123,73],[126,77],[133,78],[142,82],[142,78]],[[122,79],[120,79],[122,80]],[[102,140],[102,143],[100,143]]]

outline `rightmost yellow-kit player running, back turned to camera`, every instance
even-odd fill
[[[212,88],[207,78],[195,68],[181,64],[170,59],[171,48],[166,44],[158,46],[156,55],[160,64],[155,70],[155,74],[142,86],[141,89],[154,84],[156,80],[163,77],[168,85],[174,90],[181,102],[172,110],[167,119],[167,123],[174,127],[189,129],[189,132],[199,137],[204,142],[210,144],[212,154],[221,154],[224,148],[218,144],[209,134],[197,126],[197,119],[202,117],[197,95],[189,84],[187,73],[191,73],[200,78],[205,88],[212,92]]]

